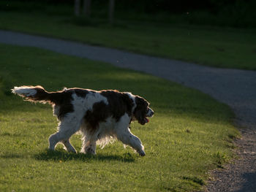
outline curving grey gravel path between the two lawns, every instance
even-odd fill
[[[236,123],[246,127],[241,129],[242,139],[236,141],[241,158],[227,165],[224,170],[214,171],[215,180],[209,182],[206,191],[256,191],[256,72],[216,69],[11,31],[0,30],[0,42],[40,47],[135,69],[196,88],[228,104],[236,113]]]

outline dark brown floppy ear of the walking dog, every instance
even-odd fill
[[[148,101],[146,101],[146,99],[143,99],[140,96],[136,96],[135,104],[136,108],[134,111],[134,116],[141,125],[144,125],[146,123],[145,118],[148,109]]]

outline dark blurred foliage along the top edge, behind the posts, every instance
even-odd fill
[[[66,5],[72,14],[74,4],[74,0],[10,0],[7,2],[7,4],[0,4],[0,11],[43,11],[45,6],[51,5],[56,7],[53,12],[61,13],[63,6],[59,8],[59,5]],[[10,6],[13,2],[16,6]],[[92,0],[92,17],[105,18],[108,15],[108,3],[108,0]],[[116,0],[115,7],[115,17],[121,19],[242,28],[256,27],[256,1],[253,0]],[[67,10],[64,13],[67,13]],[[177,18],[174,21],[173,16]]]

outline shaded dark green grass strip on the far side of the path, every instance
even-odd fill
[[[4,10],[0,12],[1,29],[72,39],[207,66],[256,69],[255,29],[118,20],[118,17],[116,25],[109,26],[108,21],[102,19],[105,15],[96,15],[94,20],[74,18],[72,6],[40,7],[40,4],[29,3],[29,8],[28,4],[26,7],[9,2],[7,8],[4,2],[0,3],[0,9]]]

